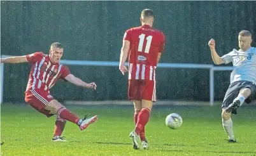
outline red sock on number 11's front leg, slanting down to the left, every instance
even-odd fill
[[[138,122],[135,127],[135,132],[137,134],[141,133],[143,129],[145,129],[146,123],[148,123],[148,119],[150,117],[150,110],[148,108],[142,108],[141,112],[138,115]]]

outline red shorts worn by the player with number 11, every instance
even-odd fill
[[[157,101],[155,81],[151,80],[129,80],[129,100]]]

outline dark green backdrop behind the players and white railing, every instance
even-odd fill
[[[52,42],[60,42],[64,60],[118,62],[124,32],[141,24],[145,8],[155,13],[153,27],[166,35],[161,63],[212,65],[211,38],[220,56],[238,49],[241,30],[255,40],[255,1],[1,1],[1,55],[48,53]],[[96,82],[97,91],[60,81],[52,89],[57,100],[127,100],[127,75],[118,67],[68,67],[85,82]],[[30,65],[4,64],[3,69],[3,102],[25,103]],[[215,101],[224,98],[230,73],[215,72]],[[157,68],[157,98],[207,102],[209,79],[209,69]]]

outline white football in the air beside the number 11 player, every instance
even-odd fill
[[[178,114],[169,114],[166,117],[166,126],[171,129],[178,129],[181,126],[183,120]]]

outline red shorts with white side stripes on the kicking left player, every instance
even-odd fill
[[[53,99],[48,91],[42,91],[41,89],[31,89],[25,92],[25,102],[38,110],[38,112],[45,114],[46,117],[53,115],[50,114],[50,110],[45,110],[46,105]]]

